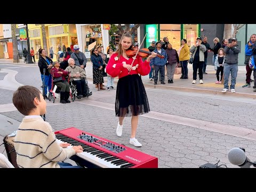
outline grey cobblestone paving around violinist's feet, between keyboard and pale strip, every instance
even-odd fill
[[[65,117],[62,111],[65,111]],[[18,111],[2,114],[18,121],[23,117]],[[215,164],[219,160],[219,165],[237,167],[230,164],[227,158],[228,151],[233,147],[244,147],[246,155],[250,159],[256,159],[256,141],[146,117],[139,118],[137,139],[143,146],[136,148],[129,144],[130,119],[124,119],[123,135],[117,137],[115,130],[118,119],[113,110],[74,102],[48,107],[46,114],[46,121],[55,131],[76,127],[99,137],[122,143],[158,157],[158,167],[199,167],[205,163]]]

